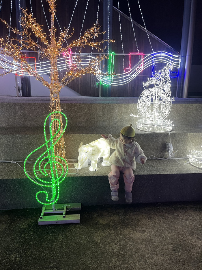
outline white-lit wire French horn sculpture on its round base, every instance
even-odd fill
[[[168,132],[172,130],[172,121],[166,120],[172,106],[169,73],[172,65],[167,65],[156,73],[143,86],[153,84],[153,88],[145,89],[138,100],[137,109],[141,116],[131,113],[131,116],[141,117],[137,128],[148,132]]]

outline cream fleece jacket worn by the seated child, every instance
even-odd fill
[[[121,142],[120,137],[115,139],[111,134],[106,139],[108,145],[115,149],[115,152],[109,158],[109,162],[116,166],[124,166],[135,170],[136,162],[141,163],[140,159],[145,157],[143,150],[137,142],[133,142],[130,148],[126,149],[126,146]]]

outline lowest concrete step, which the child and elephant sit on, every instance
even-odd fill
[[[73,164],[69,164],[72,168]],[[31,165],[30,165],[31,170]],[[119,180],[119,201],[112,201],[108,182],[111,166],[98,163],[98,171],[88,168],[69,169],[60,184],[58,203],[82,205],[125,204],[123,175]],[[14,163],[0,163],[0,209],[40,207],[35,194],[42,190]],[[173,201],[200,201],[202,199],[201,170],[182,160],[152,160],[137,164],[134,171],[132,203],[160,203]],[[48,192],[48,188],[45,188]],[[49,188],[50,189],[50,188]]]

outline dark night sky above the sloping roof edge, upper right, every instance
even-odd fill
[[[184,0],[139,0],[148,31],[180,52]],[[118,8],[118,1],[113,0]],[[142,25],[143,20],[137,0],[129,0],[132,19]],[[119,9],[130,16],[127,0],[119,0]],[[192,65],[202,65],[200,54],[202,44],[202,1],[197,1]]]

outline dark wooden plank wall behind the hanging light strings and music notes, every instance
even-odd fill
[[[8,23],[10,21],[10,3],[9,2],[10,1],[5,1],[5,0],[3,1],[2,9],[0,12],[0,16],[3,19],[5,19]],[[41,25],[43,25],[44,32],[46,32],[47,35],[49,35],[48,25],[46,23],[46,19],[45,19],[44,12],[42,9],[41,0],[35,0],[35,1],[32,0],[31,3],[32,3],[33,16]],[[48,3],[46,2],[46,0],[42,0],[42,3],[44,6],[44,11],[45,11],[46,18],[50,27],[51,21],[50,21],[50,12],[48,11]],[[64,27],[67,28],[69,25],[75,3],[76,3],[76,0],[71,0],[71,1],[57,0],[56,1],[56,4],[57,4],[56,16],[62,30],[64,29]],[[84,13],[86,9],[86,4],[87,4],[87,0],[79,0],[77,3],[77,6],[74,11],[74,16],[72,18],[72,23],[70,25],[70,32],[72,32],[72,28],[74,28],[74,35],[72,38],[67,40],[68,43],[70,43],[73,39],[79,38],[82,23],[83,23]],[[28,8],[28,11],[30,12],[29,0],[26,0],[26,6]],[[84,33],[85,30],[93,26],[93,23],[96,23],[97,11],[98,11],[98,0],[89,0],[87,12],[85,16],[85,21],[83,23],[82,34]],[[100,25],[102,25],[102,12],[103,12],[103,3],[102,1],[100,1],[100,8],[98,12],[98,21]],[[120,14],[120,16],[121,16],[121,30],[122,30],[124,53],[129,54],[130,52],[137,52],[131,21],[124,14]],[[61,30],[57,23],[57,20],[55,20],[55,27],[56,27],[57,33],[60,33]],[[16,26],[15,5],[13,5],[13,8],[12,8],[12,26],[13,27]],[[101,29],[101,31],[103,31],[103,29]],[[152,48],[149,43],[147,33],[135,23],[134,23],[134,31],[136,35],[136,41],[138,44],[139,52],[143,52],[144,54],[152,53]],[[121,54],[123,53],[123,51],[122,51],[121,34],[120,34],[120,28],[119,28],[119,15],[116,9],[113,9],[112,33],[113,33],[112,38],[115,39],[115,42],[112,43],[112,50],[115,53]],[[5,37],[7,35],[8,35],[8,28],[6,28],[4,25],[2,25],[2,23],[0,23],[0,36]],[[12,36],[12,33],[11,33],[11,36]],[[173,54],[177,54],[175,50],[167,46],[165,43],[161,42],[155,36],[149,35],[149,38],[152,43],[152,47],[154,51],[166,51],[166,52],[172,52]],[[102,36],[100,36],[99,39],[101,40]],[[75,52],[75,49],[72,49],[72,52]],[[91,47],[83,48],[82,52],[88,52],[88,53],[91,52]],[[96,50],[93,49],[93,52],[96,52]],[[117,74],[123,73],[123,69],[128,67],[129,57],[125,56],[124,67],[123,67],[123,56],[119,55],[115,58],[116,58],[115,67],[114,67],[115,73]],[[44,61],[45,60],[46,59],[44,58]],[[162,64],[162,67],[163,66],[164,64]],[[156,68],[160,68],[160,66],[158,65]],[[121,86],[112,86],[111,96],[112,97],[139,96],[143,91],[142,82],[146,81],[147,77],[152,75],[152,67],[149,67],[146,70],[143,70],[140,75],[141,76],[137,76],[128,84],[121,85]],[[59,77],[62,78],[62,76],[63,76],[63,73],[60,73]],[[98,82],[96,76],[86,74],[82,76],[82,78],[77,78],[74,81],[70,82],[68,87],[72,88],[74,91],[80,93],[83,96],[99,96],[99,87],[98,88],[94,87],[95,80]],[[171,83],[172,94],[175,95],[177,78],[172,79],[171,82],[172,82]]]

